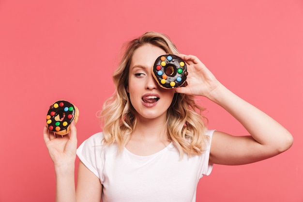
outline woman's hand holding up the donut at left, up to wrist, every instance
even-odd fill
[[[64,136],[57,135],[57,137],[53,132],[47,129],[47,126],[43,129],[43,138],[55,167],[69,165],[71,163],[75,164],[77,132],[74,121],[71,123],[70,129],[70,134]]]

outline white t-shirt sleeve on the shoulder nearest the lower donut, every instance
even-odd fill
[[[96,133],[85,140],[77,149],[77,156],[81,162],[92,171],[100,179],[100,169],[102,168],[101,155],[101,141],[103,139],[102,133]],[[99,158],[98,158],[99,156]]]

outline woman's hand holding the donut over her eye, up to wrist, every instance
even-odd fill
[[[196,56],[183,54],[178,54],[178,56],[187,63],[188,76],[187,86],[175,88],[177,93],[209,97],[210,93],[221,85]]]

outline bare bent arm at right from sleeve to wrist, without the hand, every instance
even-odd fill
[[[226,109],[251,135],[235,137],[215,131],[211,145],[211,163],[252,163],[278,155],[292,145],[292,136],[282,125],[223,85],[212,91],[209,98]]]

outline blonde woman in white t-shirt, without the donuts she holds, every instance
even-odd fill
[[[187,63],[187,85],[162,89],[152,76],[155,59],[175,54]],[[195,202],[198,180],[213,164],[240,165],[286,151],[289,132],[224,87],[192,55],[179,54],[169,38],[147,32],[129,42],[114,73],[116,93],[104,104],[103,132],[77,150],[70,136],[44,139],[55,165],[57,202]],[[207,130],[195,102],[205,96],[226,109],[248,131],[232,136]]]

